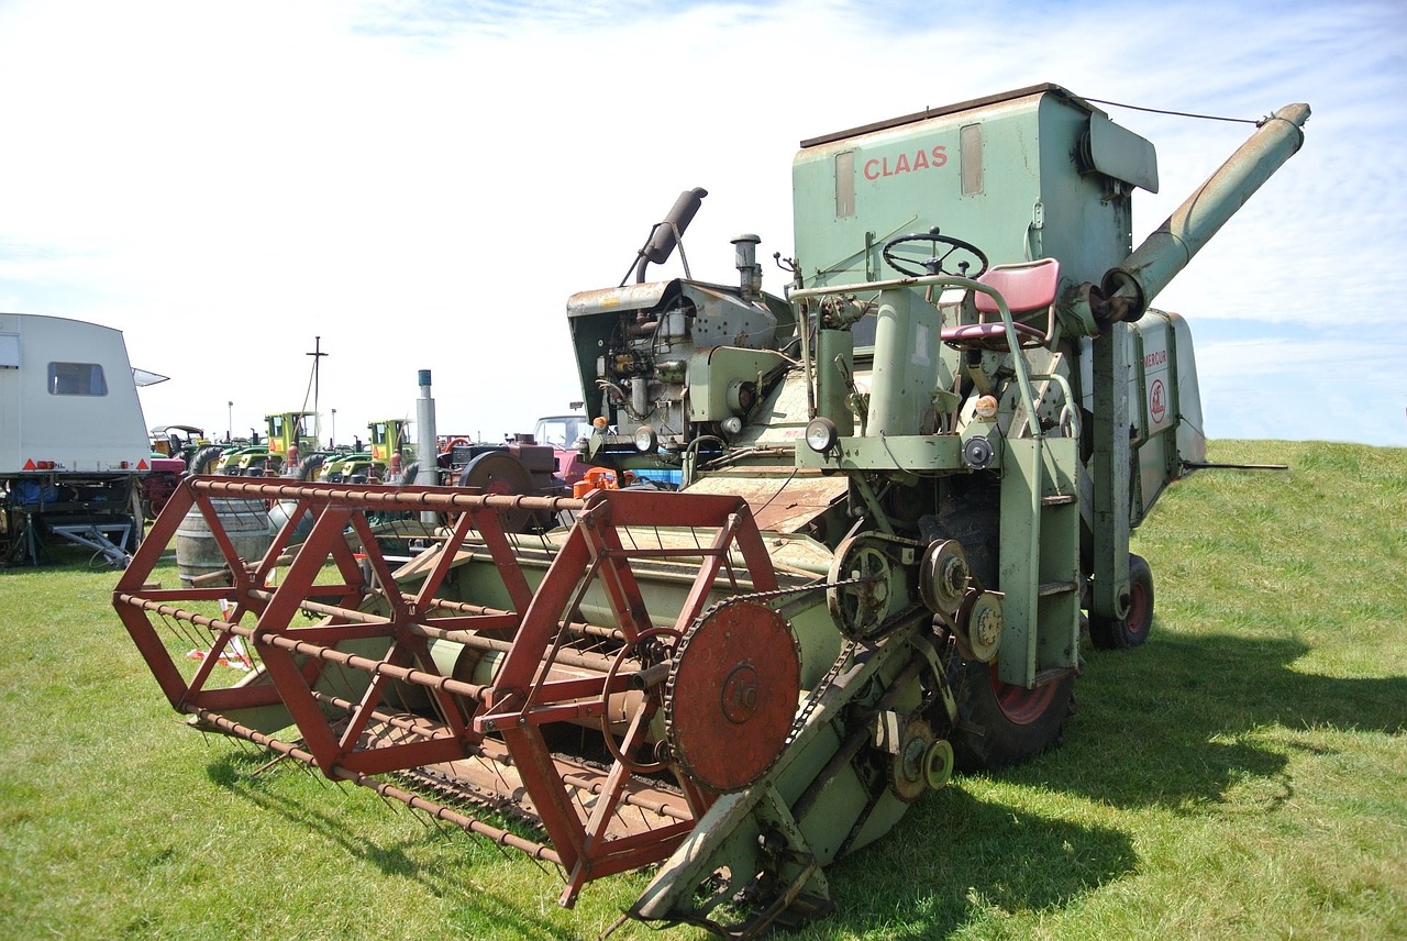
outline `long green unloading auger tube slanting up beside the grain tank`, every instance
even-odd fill
[[[1137,321],[1158,291],[1304,143],[1310,105],[1287,104],[1261,122],[1221,167],[1207,177],[1134,253],[1104,273],[1095,319]]]

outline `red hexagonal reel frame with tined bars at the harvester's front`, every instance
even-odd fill
[[[221,498],[295,501],[297,509],[287,513],[288,522],[262,558],[245,560],[238,557],[212,504]],[[501,519],[522,509],[577,515],[564,539],[553,539],[559,547],[536,589],[530,588],[516,554],[516,540],[523,537],[507,533]],[[367,520],[369,512],[387,511],[436,512],[453,519],[452,526],[440,530],[439,554],[416,567],[418,584],[407,580],[407,588],[397,582]],[[200,513],[207,522],[232,584],[182,588],[151,584],[163,550],[177,537],[187,513]],[[311,515],[312,527],[301,546],[290,549],[297,520],[305,515]],[[696,543],[687,549],[663,542],[642,546],[640,532],[661,527],[691,529]],[[362,547],[370,580],[363,575],[353,544]],[[508,610],[438,598],[464,547],[490,554],[511,599]],[[290,551],[291,561],[286,557]],[[281,557],[287,567],[280,570]],[[656,623],[646,609],[633,563],[661,558],[696,560],[696,571],[680,610],[671,612],[666,623]],[[661,705],[667,671],[654,670],[644,681],[639,655],[657,644],[656,658],[667,657],[671,641],[682,637],[704,613],[716,582],[732,581],[737,591],[734,560],[746,567],[753,589],[777,587],[757,525],[746,502],[736,497],[599,489],[578,501],[469,495],[440,487],[194,477],[183,480],[172,495],[118,580],[113,601],[172,706],[198,716],[207,727],[301,758],[331,778],[377,788],[412,806],[433,807],[436,816],[487,834],[502,830],[370,776],[425,767],[456,769],[470,760],[490,762],[501,776],[509,769],[512,779],[521,781],[529,812],[540,820],[547,844],[522,838],[508,843],[566,869],[560,902],[570,906],[591,879],[667,858],[715,799],[680,774],[675,779],[687,807],[678,807],[678,798],[668,790],[651,790],[649,782],[642,783],[642,768],[663,767],[651,767],[654,760],[642,754],[649,744],[650,719]],[[571,646],[571,637],[581,632],[573,617],[591,585],[602,589],[613,623],[587,630],[616,639],[613,658]],[[390,615],[374,613],[376,605],[363,603],[364,599],[376,601],[383,610],[388,608]],[[229,613],[215,617],[191,608],[200,603],[208,608],[212,601],[225,601]],[[308,623],[308,613],[321,620]],[[159,634],[167,622],[211,634],[210,651],[189,681]],[[212,665],[234,637],[245,639],[253,648],[262,672],[245,684],[211,688]],[[384,655],[373,658],[339,650],[342,641],[367,637],[387,641]],[[436,637],[505,648],[492,681],[478,685],[443,675],[429,650],[429,640]],[[582,668],[598,661],[599,671]],[[369,674],[356,702],[319,688],[329,664]],[[632,682],[646,689],[623,737],[618,744],[611,743],[615,761],[604,775],[553,754],[543,726],[599,720],[609,699],[630,689]],[[439,720],[418,724],[397,719],[395,710],[386,708],[393,684],[424,688]],[[301,747],[229,716],[280,703],[303,738]],[[584,788],[591,792],[590,800],[582,798]],[[640,821],[622,823],[620,809],[626,805],[636,809],[632,821],[636,817]],[[640,812],[646,806],[651,814]]]

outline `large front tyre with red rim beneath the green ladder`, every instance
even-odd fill
[[[996,771],[1059,744],[1074,702],[1075,671],[1026,689],[998,679],[996,664],[968,661],[958,684],[953,750],[960,771]]]

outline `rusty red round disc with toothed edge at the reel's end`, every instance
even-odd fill
[[[791,733],[801,654],[787,620],[753,601],[702,615],[674,651],[664,696],[670,755],[718,793],[761,778]]]

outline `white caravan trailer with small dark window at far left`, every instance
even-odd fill
[[[125,565],[141,542],[151,439],[121,331],[0,314],[0,561],[38,563],[48,537]]]

